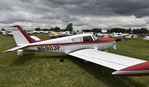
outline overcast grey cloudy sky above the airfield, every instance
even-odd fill
[[[0,0],[0,28],[149,28],[149,0]]]

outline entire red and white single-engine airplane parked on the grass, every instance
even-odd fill
[[[32,39],[19,25],[11,26],[12,34],[17,47],[6,50],[17,50],[18,55],[23,50],[63,52],[80,59],[99,64],[116,70],[117,76],[144,76],[149,75],[149,62],[131,57],[104,52],[108,48],[116,48],[113,38],[98,38],[92,34],[79,34],[50,40]]]

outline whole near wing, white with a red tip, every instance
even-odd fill
[[[114,70],[113,75],[149,75],[149,62],[96,49],[83,49],[68,55],[90,61]]]

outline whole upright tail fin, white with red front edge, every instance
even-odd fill
[[[34,42],[32,38],[21,28],[21,26],[15,25],[11,27],[18,28],[18,29],[12,29],[12,34],[17,45],[24,45]]]

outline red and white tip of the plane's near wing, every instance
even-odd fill
[[[112,73],[117,76],[145,76],[149,75],[149,62],[136,64]]]

